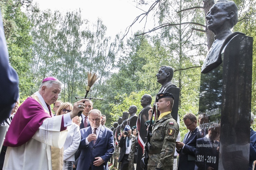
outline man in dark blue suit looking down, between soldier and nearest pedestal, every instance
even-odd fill
[[[197,139],[197,118],[193,113],[187,113],[183,121],[189,132],[183,142],[176,142],[176,151],[179,153],[178,170],[195,169],[195,147]]]

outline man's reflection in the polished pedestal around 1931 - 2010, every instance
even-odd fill
[[[208,134],[196,140],[195,170],[218,169],[220,142],[217,139],[220,137],[220,131],[221,126],[212,123]]]

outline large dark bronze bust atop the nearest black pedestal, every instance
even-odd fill
[[[240,32],[231,32],[238,21],[237,5],[234,1],[220,0],[215,3],[206,15],[207,28],[215,35],[208,54],[203,62],[201,73],[205,74],[222,63],[221,52],[226,43]]]

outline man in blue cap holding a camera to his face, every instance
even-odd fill
[[[121,148],[120,156],[118,162],[121,162],[121,170],[129,170],[129,153],[131,151],[132,141],[135,140],[135,136],[132,135],[132,130],[129,125],[126,125],[122,131],[122,137],[119,142],[119,147]]]

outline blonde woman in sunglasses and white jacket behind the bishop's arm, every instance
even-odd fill
[[[63,115],[71,112],[73,105],[71,103],[63,103],[60,105],[56,115]],[[73,123],[67,127],[68,135],[64,144],[63,170],[73,170],[75,161],[75,153],[81,141],[79,126]]]

